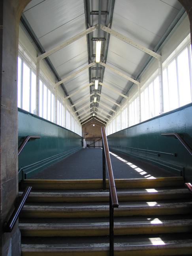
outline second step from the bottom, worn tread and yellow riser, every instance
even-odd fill
[[[136,235],[136,234],[154,234],[154,233],[180,233],[191,232],[191,218],[179,219],[178,216],[162,216],[146,218],[121,218],[115,219],[114,234],[115,235]],[[180,216],[181,218],[181,216]],[[37,236],[37,237],[68,237],[68,236],[100,236],[109,235],[109,220],[106,218],[98,219],[70,219],[66,220],[50,220],[36,223],[36,219],[31,222],[19,223],[19,229],[22,236]]]

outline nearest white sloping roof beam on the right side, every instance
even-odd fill
[[[101,29],[104,30],[105,32],[115,36],[116,38],[119,38],[120,40],[136,47],[137,49],[153,56],[154,58],[158,59],[158,60],[161,60],[162,59],[162,56],[159,55],[158,53],[155,53],[154,51],[148,49],[147,47],[141,45],[140,43],[137,43],[136,41],[130,39],[130,38],[127,38],[126,36],[123,36],[122,34],[118,33],[117,31],[111,29],[111,28],[107,28],[106,26],[102,25],[101,24]]]

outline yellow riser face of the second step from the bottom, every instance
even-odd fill
[[[177,227],[150,227],[150,228],[114,228],[114,235],[141,235],[141,234],[158,234],[158,233],[182,233],[191,232],[191,226],[177,226]],[[109,227],[105,229],[85,229],[85,230],[22,230],[22,237],[77,237],[77,236],[108,236]]]

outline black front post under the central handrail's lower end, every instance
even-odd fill
[[[113,255],[114,255],[114,208],[111,202],[111,192],[109,192],[109,256],[113,256]]]

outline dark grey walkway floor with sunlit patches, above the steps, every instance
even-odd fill
[[[169,171],[117,151],[110,151],[110,157],[115,179],[175,176]],[[30,179],[102,179],[102,175],[102,149],[81,149]]]

